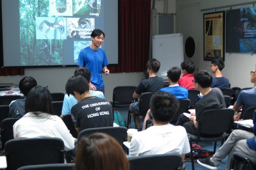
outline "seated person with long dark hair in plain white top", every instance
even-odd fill
[[[74,148],[75,138],[54,114],[52,96],[46,87],[37,85],[28,92],[25,110],[26,114],[13,125],[15,139],[57,137],[63,140],[65,151]]]

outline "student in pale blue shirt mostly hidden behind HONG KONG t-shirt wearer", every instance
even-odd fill
[[[87,68],[77,68],[74,71],[74,76],[83,76],[85,79],[88,81],[88,83],[91,82],[91,71]],[[101,91],[94,91],[94,90],[89,90],[91,95],[100,97],[104,99],[104,94]],[[73,105],[77,103],[77,100],[74,98],[73,95],[67,95],[65,94],[64,96],[64,101],[63,101],[63,106],[62,106],[62,115],[69,114],[71,111],[71,108]]]

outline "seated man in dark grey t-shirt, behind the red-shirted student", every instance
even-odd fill
[[[203,95],[202,98],[195,103],[195,113],[191,113],[190,118],[181,114],[177,120],[176,126],[185,127],[186,131],[192,135],[197,135],[198,120],[204,110],[226,108],[223,93],[219,88],[210,88],[212,76],[207,71],[201,70],[194,74],[193,80],[195,89],[199,90]]]

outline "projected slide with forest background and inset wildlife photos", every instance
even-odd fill
[[[76,64],[100,13],[101,0],[20,0],[20,65]]]

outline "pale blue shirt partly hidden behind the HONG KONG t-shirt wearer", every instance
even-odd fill
[[[100,91],[89,90],[89,92],[93,96],[100,97],[100,98],[104,99],[104,94]],[[61,114],[66,115],[66,114],[71,113],[71,108],[76,103],[77,103],[77,100],[74,98],[73,95],[70,94],[68,96],[67,94],[65,94]]]

